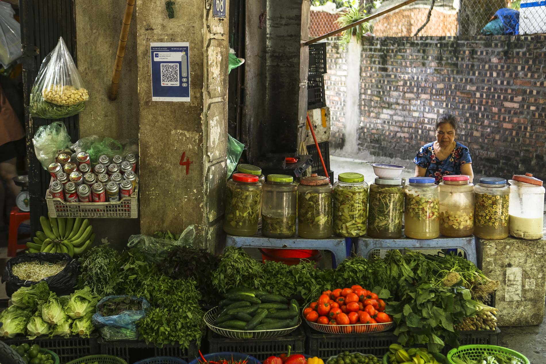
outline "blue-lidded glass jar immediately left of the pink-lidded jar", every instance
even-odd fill
[[[404,235],[434,239],[440,235],[440,190],[434,177],[412,177],[404,187]]]

